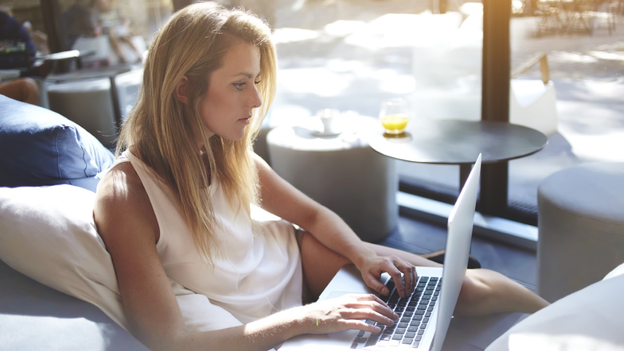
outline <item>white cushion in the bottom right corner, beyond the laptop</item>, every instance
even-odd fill
[[[623,291],[624,264],[514,325],[485,351],[624,350]]]

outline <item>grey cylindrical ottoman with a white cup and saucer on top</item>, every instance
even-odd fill
[[[397,223],[395,161],[366,142],[367,126],[376,120],[351,118],[344,121],[349,132],[338,136],[315,136],[310,127],[276,127],[266,136],[268,153],[281,177],[336,212],[361,239],[376,242]]]

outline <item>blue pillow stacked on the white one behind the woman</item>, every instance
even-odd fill
[[[71,184],[95,191],[114,156],[56,112],[0,95],[0,186]]]

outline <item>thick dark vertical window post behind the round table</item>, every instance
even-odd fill
[[[483,62],[481,119],[509,122],[511,1],[483,0]],[[484,165],[479,210],[501,214],[507,209],[507,162]]]

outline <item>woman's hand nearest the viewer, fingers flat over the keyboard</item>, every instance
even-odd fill
[[[309,334],[328,334],[358,329],[378,332],[379,327],[364,320],[392,325],[399,318],[385,302],[373,294],[347,294],[302,306],[305,309],[303,325]]]

